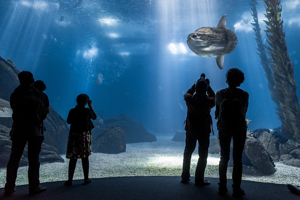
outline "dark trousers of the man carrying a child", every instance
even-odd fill
[[[15,187],[19,162],[22,157],[26,143],[28,142],[28,182],[29,190],[36,190],[40,184],[40,162],[39,154],[41,152],[44,136],[19,136],[11,138],[11,154],[7,163],[5,191],[10,192]]]

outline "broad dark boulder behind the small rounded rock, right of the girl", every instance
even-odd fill
[[[105,129],[109,127],[119,126],[124,128],[126,132],[126,144],[137,142],[155,142],[155,135],[149,133],[143,126],[137,121],[134,121],[126,115],[119,115],[114,118],[107,118],[103,120],[101,124],[98,120],[93,123],[95,128],[92,130],[94,136],[98,136]]]

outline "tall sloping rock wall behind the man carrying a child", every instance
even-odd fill
[[[11,60],[0,57],[0,98],[9,101],[10,94],[19,86],[18,73],[20,71]],[[4,89],[5,88],[5,89]],[[0,118],[0,124],[11,127],[12,118]],[[66,121],[50,106],[50,114],[44,121],[47,128],[44,143],[55,147],[59,153],[64,154],[67,150],[69,128]]]

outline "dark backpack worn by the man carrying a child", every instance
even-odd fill
[[[26,88],[13,109],[13,121],[24,126],[39,126],[46,119],[44,98],[40,91],[34,87]]]

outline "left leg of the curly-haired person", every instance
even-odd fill
[[[231,142],[231,134],[224,134],[223,131],[219,131],[219,141],[221,148],[221,158],[219,163],[219,186],[226,188],[227,185],[227,167],[230,155],[230,142]]]

